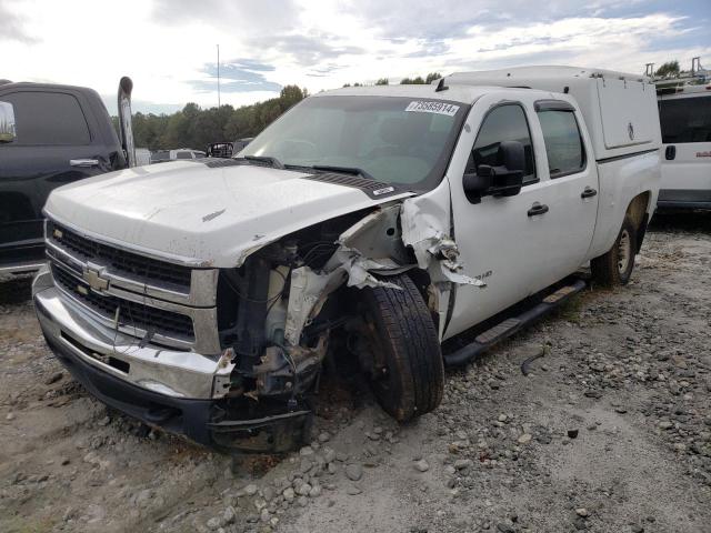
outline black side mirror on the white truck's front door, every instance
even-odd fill
[[[481,197],[514,197],[523,185],[525,169],[525,151],[519,141],[503,141],[499,144],[497,161],[501,164],[492,167],[480,164],[477,173],[463,177],[463,188],[471,203],[481,202]]]

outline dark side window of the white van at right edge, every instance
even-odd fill
[[[659,120],[664,144],[711,142],[711,94],[662,99]]]

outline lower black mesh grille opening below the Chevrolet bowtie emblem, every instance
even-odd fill
[[[66,292],[109,321],[114,321],[118,310],[119,326],[158,333],[186,342],[194,341],[192,319],[184,314],[152,308],[110,294],[99,294],[70,270],[52,263],[54,282]]]

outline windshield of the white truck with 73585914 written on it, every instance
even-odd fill
[[[240,157],[341,167],[412,190],[442,179],[469,105],[393,97],[316,97],[282,115]]]

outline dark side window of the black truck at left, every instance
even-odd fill
[[[91,144],[89,125],[76,97],[26,91],[2,97],[14,108],[17,145]]]

